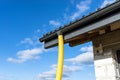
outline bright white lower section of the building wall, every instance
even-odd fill
[[[115,67],[112,58],[95,60],[96,80],[116,80]]]

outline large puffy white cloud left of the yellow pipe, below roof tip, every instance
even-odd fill
[[[13,63],[23,63],[28,60],[39,59],[39,54],[43,53],[45,50],[43,48],[33,48],[27,50],[21,50],[17,52],[17,59],[8,58],[7,61]]]

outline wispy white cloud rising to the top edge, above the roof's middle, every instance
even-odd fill
[[[71,20],[75,20],[77,17],[81,15],[81,13],[87,11],[90,7],[91,0],[81,1],[79,4],[76,4],[77,11],[71,16]]]

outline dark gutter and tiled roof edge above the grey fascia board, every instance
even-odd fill
[[[82,19],[78,20],[77,22],[74,22],[72,24],[67,25],[66,27],[60,28],[59,30],[61,30],[63,33],[65,33],[66,31],[69,31],[69,30],[71,30],[73,28],[77,28],[78,25],[83,24],[84,22],[87,23],[87,22],[89,22],[91,20],[94,20],[96,17],[101,17],[103,15],[106,15],[107,13],[115,11],[118,8],[120,8],[120,1],[118,1],[118,2],[116,2],[114,4],[112,4],[112,5],[109,5],[109,6],[103,8],[103,9],[101,9],[99,11],[96,11],[93,14],[88,15],[85,18],[82,18]],[[57,37],[57,31],[59,31],[59,30],[56,30],[51,34],[43,36],[42,38],[39,39],[40,42],[49,41],[49,39],[51,39],[53,37]]]

